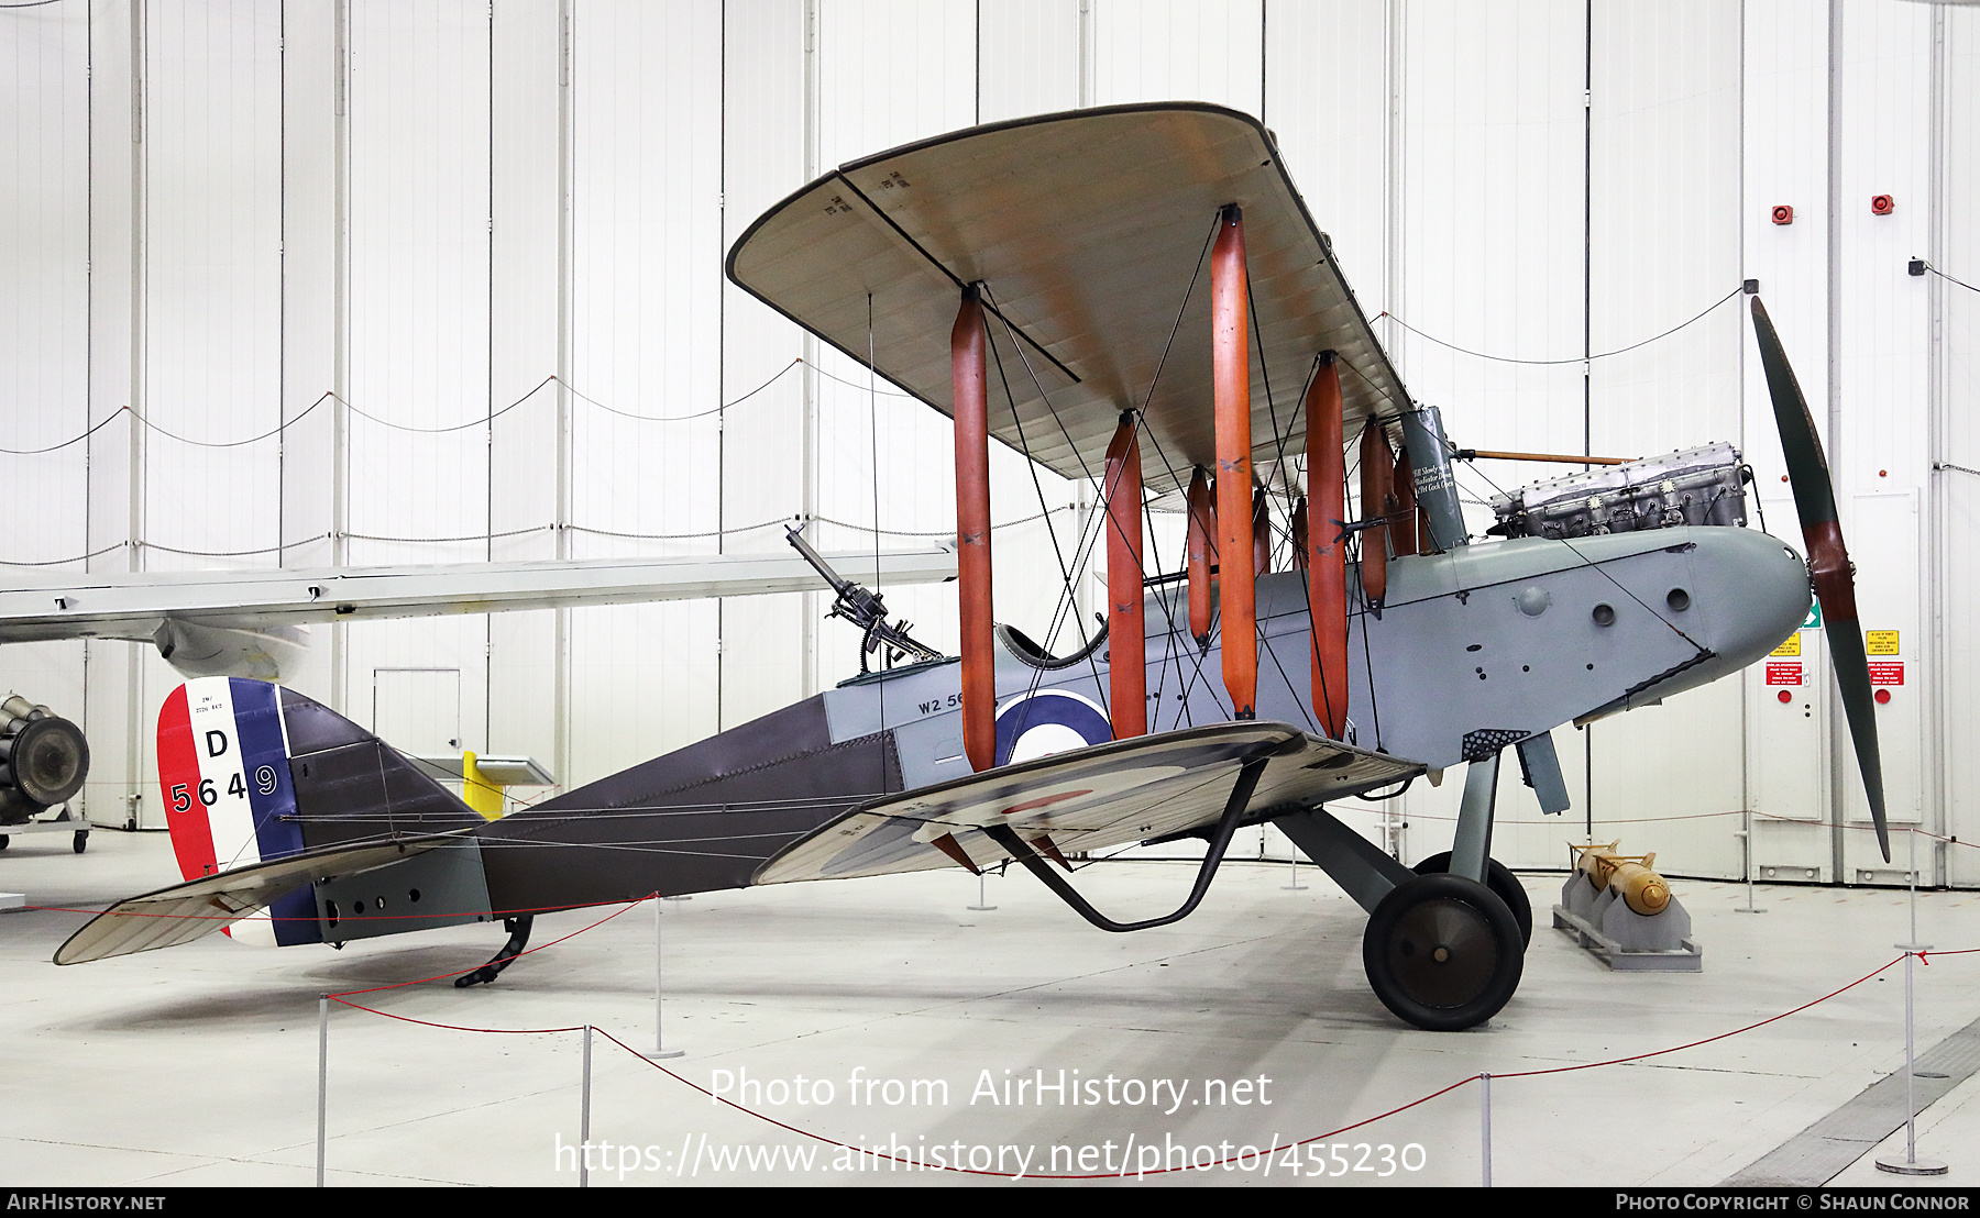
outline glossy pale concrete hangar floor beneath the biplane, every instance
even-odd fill
[[[1186,921],[1137,935],[1087,927],[1030,876],[990,878],[994,912],[968,912],[960,872],[705,894],[663,906],[669,1062],[683,1078],[796,1078],[832,1084],[796,1103],[770,1088],[768,1117],[853,1145],[944,1157],[954,1147],[1093,1147],[1087,1171],[1142,1147],[1241,1147],[1309,1139],[1477,1076],[1639,1054],[1778,1014],[1893,959],[1905,894],[1760,890],[1764,915],[1734,914],[1731,884],[1677,882],[1705,947],[1703,975],[1612,975],[1546,927],[1560,878],[1527,876],[1538,910],[1527,973],[1485,1028],[1418,1032],[1370,995],[1364,917],[1311,868],[1232,864]],[[85,856],[59,836],[16,838],[0,888],[30,904],[101,904],[174,878],[162,834],[97,832]],[[1180,864],[1109,864],[1081,876],[1117,917],[1168,910],[1188,890]],[[598,914],[539,919],[537,943]],[[315,1171],[317,995],[465,969],[501,941],[459,927],[352,945],[255,949],[212,935],[188,947],[57,969],[55,945],[83,915],[0,917],[0,1012],[14,1046],[0,1076],[0,1180],[8,1184],[307,1184]],[[1980,947],[1980,896],[1923,894],[1921,935]],[[590,1022],[630,1044],[653,1036],[653,917],[642,906],[519,961],[485,989],[446,983],[358,1000],[424,1020],[491,1028]],[[1980,955],[1919,969],[1919,1044],[1980,1014]],[[622,1147],[640,1147],[624,1184],[970,1182],[840,1155],[752,1115],[713,1105],[608,1042],[596,1042],[592,1184],[618,1186]],[[1812,1010],[1649,1062],[1493,1084],[1497,1184],[1713,1184],[1806,1129],[1903,1064],[1903,969]],[[988,1078],[1174,1080],[1182,1103],[1000,1105]],[[847,1080],[942,1080],[946,1101],[853,1103]],[[329,1182],[576,1184],[580,1036],[491,1036],[333,1008]],[[1200,1103],[1204,1082],[1253,1082],[1247,1105]],[[1105,1088],[1105,1082],[1101,1082]],[[784,1103],[774,1103],[782,1097]],[[869,1099],[869,1101],[867,1101]],[[1117,1091],[1117,1099],[1125,1093]],[[1895,1135],[1903,1151],[1903,1131]],[[1111,1143],[1111,1145],[1109,1145]],[[1228,1147],[1226,1147],[1228,1143]],[[1479,1086],[1348,1135],[1321,1151],[1164,1184],[1291,1182],[1319,1165],[1329,1182],[1475,1184]],[[1368,1143],[1368,1151],[1358,1149]],[[1889,1149],[1887,1143],[1885,1149]],[[792,1171],[719,1167],[770,1147],[818,1155]],[[1384,1147],[1414,1171],[1382,1176]],[[1927,1182],[1980,1182],[1980,1076],[1919,1121],[1919,1153],[1952,1161]],[[1184,1151],[1188,1155],[1190,1151]],[[994,1151],[978,1151],[984,1163]],[[1063,1153],[1061,1153],[1063,1155]],[[1202,1155],[1198,1151],[1198,1155]],[[1897,1184],[1871,1157],[1837,1182]],[[1073,1159],[1077,1163],[1077,1159]],[[1348,1171],[1352,1167],[1368,1171]],[[1049,1165],[1047,1165],[1049,1167]],[[1065,1159],[1059,1169],[1063,1171]],[[1319,1182],[1319,1180],[1315,1180]]]

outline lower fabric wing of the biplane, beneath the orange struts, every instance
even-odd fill
[[[1424,765],[1307,736],[1291,724],[1184,728],[1053,753],[871,801],[792,842],[756,884],[843,880],[1010,858],[984,826],[1047,852],[1103,850],[1216,825],[1245,759],[1267,755],[1251,811],[1313,807],[1424,773]]]

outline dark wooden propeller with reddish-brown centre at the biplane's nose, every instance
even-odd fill
[[[1816,601],[1822,605],[1822,627],[1830,637],[1830,664],[1835,668],[1835,688],[1849,718],[1849,740],[1855,743],[1857,769],[1863,773],[1869,819],[1877,825],[1877,848],[1883,850],[1883,860],[1891,862],[1891,830],[1883,815],[1883,759],[1877,753],[1877,704],[1871,700],[1869,656],[1863,652],[1863,625],[1857,621],[1855,569],[1849,566],[1843,530],[1835,520],[1830,463],[1822,455],[1822,435],[1816,431],[1814,415],[1808,413],[1808,397],[1794,380],[1788,352],[1782,350],[1760,297],[1752,299],[1752,332],[1760,342],[1766,392],[1774,399],[1774,425],[1780,431],[1780,451],[1788,459],[1794,510],[1802,516],[1808,571],[1816,583]]]

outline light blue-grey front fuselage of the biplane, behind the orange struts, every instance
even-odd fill
[[[1356,575],[1350,567],[1350,587]],[[1786,639],[1808,603],[1802,558],[1746,528],[1519,538],[1396,558],[1380,617],[1350,607],[1350,738],[1453,765],[1736,672]],[[1259,577],[1257,621],[1257,718],[1319,732],[1305,575]],[[1230,720],[1222,643],[1200,651],[1190,639],[1180,585],[1148,595],[1146,635],[1148,730]],[[1041,670],[1006,651],[1000,712],[1043,690],[1105,708],[1109,662],[1101,649],[1089,662]],[[968,773],[954,662],[847,684],[824,702],[834,740],[891,728],[909,787]]]

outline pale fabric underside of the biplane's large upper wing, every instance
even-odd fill
[[[1257,318],[1253,465],[1303,451],[1293,413],[1323,350],[1348,368],[1348,433],[1408,407],[1271,134],[1206,103],[1036,115],[845,164],[750,225],[729,277],[942,413],[960,287],[982,283],[992,435],[1081,478],[1140,409],[1162,455],[1144,480],[1166,492],[1216,461],[1202,261],[1226,204],[1243,208]]]

